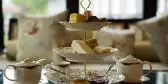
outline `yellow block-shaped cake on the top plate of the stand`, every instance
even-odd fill
[[[72,13],[70,15],[70,23],[79,23],[79,22],[85,22],[87,20],[86,15],[83,14],[77,14],[77,13]]]

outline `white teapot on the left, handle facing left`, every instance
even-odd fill
[[[5,68],[4,76],[10,81],[16,81],[17,84],[38,84],[41,79],[42,64],[45,59],[32,61],[27,58],[24,61],[16,63],[15,65],[8,65]],[[6,75],[8,67],[14,68],[15,79],[10,79]]]

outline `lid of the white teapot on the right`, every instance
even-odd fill
[[[120,59],[119,60],[122,63],[141,63],[142,61],[134,58],[132,55],[127,56],[126,58]]]

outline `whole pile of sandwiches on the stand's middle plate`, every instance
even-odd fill
[[[111,51],[111,47],[98,46],[96,39],[73,40],[71,47],[64,47],[63,49],[65,52],[78,54],[103,54]]]

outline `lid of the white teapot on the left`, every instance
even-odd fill
[[[18,62],[15,64],[15,66],[19,66],[19,67],[30,67],[30,66],[39,66],[38,63],[36,63],[35,61],[27,58],[24,61]]]

